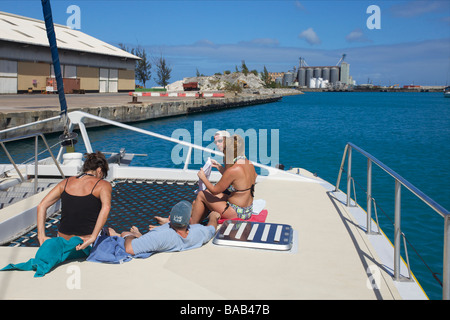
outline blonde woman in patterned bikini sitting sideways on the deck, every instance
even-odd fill
[[[224,140],[224,165],[222,178],[213,185],[202,169],[198,177],[207,190],[200,191],[192,204],[191,223],[199,223],[210,211],[217,211],[222,219],[250,219],[253,212],[253,197],[256,171],[245,157],[244,140],[239,135]],[[225,190],[229,194],[225,194]]]

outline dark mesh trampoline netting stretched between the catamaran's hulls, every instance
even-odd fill
[[[147,180],[114,181],[111,211],[106,226],[117,232],[128,231],[136,226],[142,233],[149,225],[157,225],[156,216],[168,217],[170,209],[179,201],[192,202],[198,188],[193,182],[161,182]],[[46,221],[46,233],[55,237],[58,232],[60,214]],[[14,240],[7,246],[38,247],[37,229]]]

